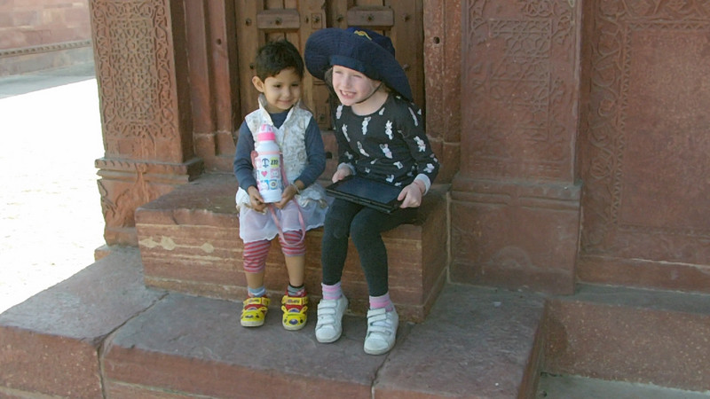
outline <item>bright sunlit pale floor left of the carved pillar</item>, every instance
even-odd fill
[[[0,78],[0,313],[90,265],[104,244],[93,65]]]

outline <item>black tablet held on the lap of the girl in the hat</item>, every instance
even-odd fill
[[[373,207],[387,214],[399,208],[402,201],[397,200],[397,197],[401,191],[395,185],[358,175],[347,176],[326,187],[326,192],[335,198]]]

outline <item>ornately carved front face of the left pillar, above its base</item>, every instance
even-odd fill
[[[107,157],[183,161],[167,2],[91,2]]]

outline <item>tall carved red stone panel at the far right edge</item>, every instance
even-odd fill
[[[580,276],[708,286],[710,3],[596,1],[592,15]]]

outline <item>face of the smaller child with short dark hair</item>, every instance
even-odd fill
[[[256,90],[264,93],[266,111],[281,113],[288,111],[301,98],[301,76],[296,69],[281,70],[276,76],[267,77],[264,82],[258,76],[252,78]]]

